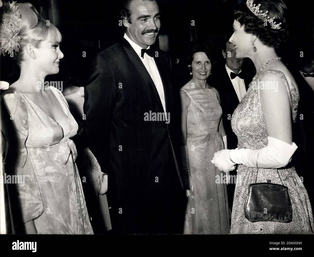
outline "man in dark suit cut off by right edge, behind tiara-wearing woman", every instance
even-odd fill
[[[302,49],[304,51],[304,49]],[[296,172],[308,192],[311,204],[314,201],[314,53],[304,51],[304,56],[298,56],[295,62],[298,67],[289,67],[299,89],[298,115],[293,129],[293,138],[298,149],[292,157]]]

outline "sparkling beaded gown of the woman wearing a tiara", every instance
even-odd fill
[[[296,119],[299,96],[290,79],[279,70],[267,70],[275,73],[284,81],[289,95],[293,121]],[[252,83],[251,83],[252,85]],[[261,149],[268,144],[266,125],[260,100],[260,85],[252,87],[241,100],[231,119],[232,129],[238,137],[238,148]],[[284,184],[292,205],[292,221],[290,223],[259,221],[250,222],[244,215],[244,204],[248,195],[250,183],[267,182]],[[280,174],[280,177],[279,177]],[[231,234],[310,234],[313,233],[313,214],[311,204],[294,167],[266,169],[238,165],[235,195],[231,218]],[[281,179],[280,179],[281,178]],[[281,182],[282,181],[282,182]]]

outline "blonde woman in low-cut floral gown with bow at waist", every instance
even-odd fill
[[[7,5],[21,15],[21,73],[1,96],[9,146],[5,168],[20,178],[9,185],[15,233],[93,234],[70,139],[78,124],[62,93],[42,85],[46,75],[59,72],[61,34],[30,3]]]

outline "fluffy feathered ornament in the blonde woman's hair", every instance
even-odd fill
[[[3,55],[12,51],[19,52],[21,14],[15,3],[4,3],[2,7],[4,11],[0,27],[0,49]]]

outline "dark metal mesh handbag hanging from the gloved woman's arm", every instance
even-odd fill
[[[245,217],[251,222],[276,221],[289,223],[292,221],[291,201],[288,188],[284,186],[280,174],[282,185],[270,183],[256,183],[257,181],[257,161],[255,166],[255,183],[249,185],[249,194],[244,204]]]

